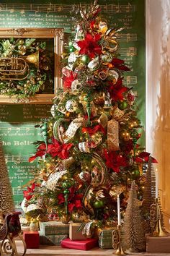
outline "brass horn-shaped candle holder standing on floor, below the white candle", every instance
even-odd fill
[[[116,252],[113,252],[114,255],[126,255],[126,253],[122,249],[120,231],[120,225],[117,225],[117,229],[112,231],[112,247],[113,249],[116,249]]]

